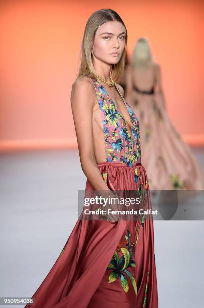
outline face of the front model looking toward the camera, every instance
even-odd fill
[[[92,53],[103,62],[116,64],[122,56],[125,41],[125,27],[118,21],[107,22],[95,33]]]

